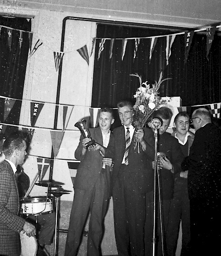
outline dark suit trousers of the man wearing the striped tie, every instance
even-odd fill
[[[134,189],[132,174],[121,165],[113,188],[114,227],[118,256],[144,255],[145,194]]]

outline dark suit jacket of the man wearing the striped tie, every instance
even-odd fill
[[[146,144],[146,150],[143,151],[140,146],[140,153],[137,153],[137,149],[133,148],[134,136],[129,148],[128,154],[128,171],[131,177],[131,188],[137,193],[146,193],[151,191],[152,182],[150,182],[150,172],[153,172],[152,168],[148,168],[147,159],[154,160],[154,137],[153,132],[144,128],[144,141]],[[114,139],[109,142],[107,149],[105,150],[105,157],[112,157],[114,160],[113,168],[113,186],[119,176],[119,170],[125,153],[125,130],[124,126],[120,126],[113,131]],[[135,134],[134,134],[135,135]]]

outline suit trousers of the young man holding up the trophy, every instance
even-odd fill
[[[65,248],[65,256],[77,255],[88,212],[90,211],[87,237],[87,256],[101,255],[103,221],[109,203],[109,185],[105,169],[102,169],[95,185],[90,190],[74,189],[74,200]]]

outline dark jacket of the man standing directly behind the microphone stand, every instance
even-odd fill
[[[180,149],[178,140],[167,132],[158,136],[157,147],[157,151],[167,156],[174,169],[174,173],[164,168],[160,170],[161,196],[164,200],[170,200],[173,198],[174,176],[181,171],[181,163],[184,155]],[[149,162],[149,166],[152,168],[152,162]]]

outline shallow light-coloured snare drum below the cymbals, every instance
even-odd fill
[[[52,213],[53,202],[52,198],[47,197],[30,197],[22,198],[20,200],[22,213],[26,216],[40,215],[45,213]]]

